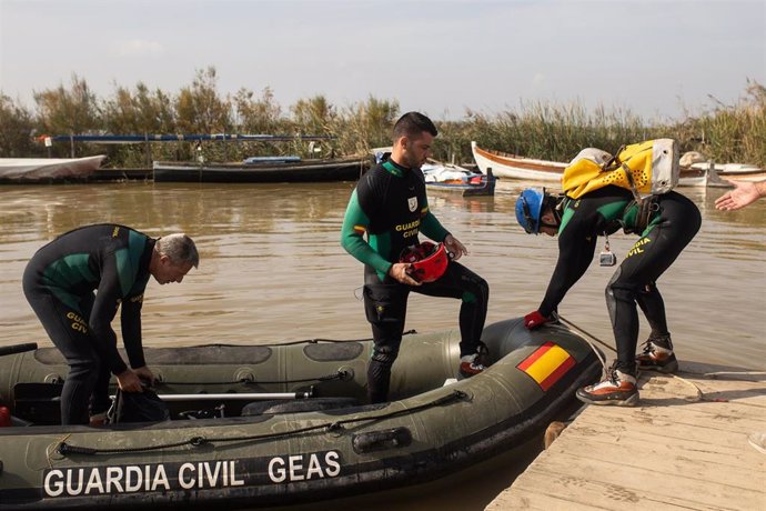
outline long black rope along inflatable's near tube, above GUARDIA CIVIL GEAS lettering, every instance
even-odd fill
[[[293,435],[309,433],[309,432],[313,432],[313,431],[320,431],[320,430],[325,430],[326,432],[335,433],[337,431],[343,430],[344,424],[392,419],[392,418],[396,418],[400,415],[406,415],[406,414],[415,413],[415,412],[419,412],[421,410],[426,410],[430,408],[442,407],[442,405],[451,404],[451,403],[457,402],[457,401],[464,401],[464,400],[467,400],[468,398],[470,397],[466,392],[455,390],[455,391],[452,391],[451,393],[448,393],[447,395],[443,395],[439,399],[435,399],[433,401],[430,401],[427,403],[423,403],[423,404],[420,404],[420,405],[413,407],[413,408],[396,410],[393,412],[382,413],[382,414],[373,415],[373,417],[357,417],[354,419],[343,419],[343,420],[334,421],[334,422],[325,422],[322,424],[310,425],[306,428],[300,428],[296,430],[278,432],[278,433],[249,434],[249,435],[243,435],[243,437],[225,437],[225,438],[192,437],[188,440],[183,440],[180,442],[162,443],[162,444],[157,444],[157,445],[147,445],[147,447],[139,447],[139,448],[124,448],[124,449],[94,449],[94,448],[88,448],[88,447],[71,445],[71,444],[67,443],[65,441],[62,441],[59,443],[57,451],[62,455],[67,455],[67,454],[85,454],[85,455],[117,454],[117,453],[125,453],[125,452],[158,451],[158,450],[162,450],[162,449],[172,449],[172,448],[178,448],[178,447],[183,447],[183,445],[201,447],[204,444],[221,443],[221,442],[242,442],[242,441],[248,441],[248,440],[274,440],[274,439],[293,437]]]

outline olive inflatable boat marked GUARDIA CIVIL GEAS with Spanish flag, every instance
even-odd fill
[[[512,319],[457,381],[458,340],[405,335],[382,404],[364,403],[370,340],[148,348],[170,420],[100,428],[57,424],[58,350],[2,348],[0,509],[260,509],[431,482],[541,434],[601,371],[578,334]]]

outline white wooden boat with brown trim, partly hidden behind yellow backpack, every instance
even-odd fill
[[[492,169],[498,178],[527,181],[561,182],[564,169],[568,163],[548,160],[535,160],[516,154],[480,148],[471,142],[474,160],[482,172]],[[759,181],[766,179],[766,170],[752,166],[694,163],[681,168],[679,187],[730,187],[725,180]]]

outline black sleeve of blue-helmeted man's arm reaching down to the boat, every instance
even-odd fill
[[[558,261],[540,304],[540,313],[546,318],[556,311],[567,291],[579,280],[593,261],[597,236],[584,232],[576,221],[570,222],[558,236]]]

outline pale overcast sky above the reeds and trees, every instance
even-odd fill
[[[283,110],[324,94],[434,119],[538,100],[678,119],[766,84],[766,0],[0,0],[0,89],[30,108],[72,73],[107,98],[177,93],[209,66],[222,94],[269,87]]]

